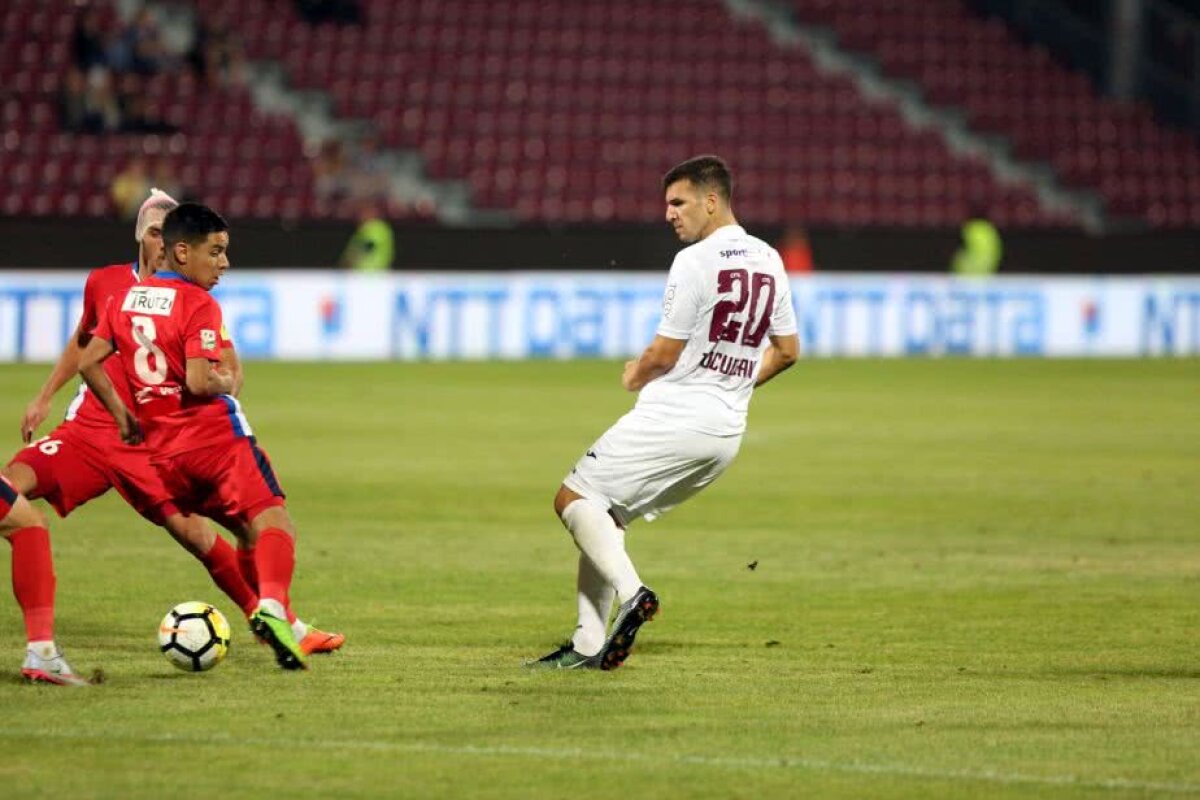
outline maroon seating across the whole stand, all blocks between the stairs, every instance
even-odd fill
[[[1200,224],[1194,144],[1141,107],[1097,97],[1002,24],[958,0],[793,1],[800,20],[830,26],[932,102],[1102,192],[1111,210]],[[95,5],[116,24],[110,4]],[[466,181],[475,205],[520,221],[653,222],[661,174],[718,152],[734,167],[739,215],[757,224],[943,227],[972,207],[1009,227],[1075,224],[718,0],[668,11],[643,0],[364,0],[361,26],[313,26],[282,0],[194,6],[234,24],[251,59],[328,91],[338,115],[420,152],[431,178]],[[58,98],[77,13],[67,0],[11,0],[0,12],[4,213],[112,215],[109,186],[134,154],[235,217],[353,213],[318,197],[294,121],[258,112],[244,86],[187,71],[122,76],[180,132],[65,131]]]

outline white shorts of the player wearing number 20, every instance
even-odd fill
[[[680,431],[630,411],[563,479],[566,488],[608,509],[622,525],[653,521],[715,481],[742,437]]]

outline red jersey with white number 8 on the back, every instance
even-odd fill
[[[187,391],[187,360],[221,361],[221,307],[178,272],[158,272],[108,305],[96,336],[116,348],[154,461],[253,432],[229,395]]]

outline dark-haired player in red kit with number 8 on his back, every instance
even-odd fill
[[[208,206],[185,203],[170,211],[163,221],[167,269],[114,297],[79,372],[116,420],[121,439],[137,445],[144,437],[181,510],[257,542],[259,603],[251,630],[271,645],[281,667],[304,669],[305,654],[287,618],[295,529],[271,463],[232,395],[236,379],[221,366],[221,307],[209,291],[229,267],[228,231]],[[127,398],[104,366],[114,350],[132,390]]]

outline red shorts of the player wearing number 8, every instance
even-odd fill
[[[248,524],[283,505],[271,461],[252,438],[190,450],[157,462],[167,491],[185,513],[226,528]]]

